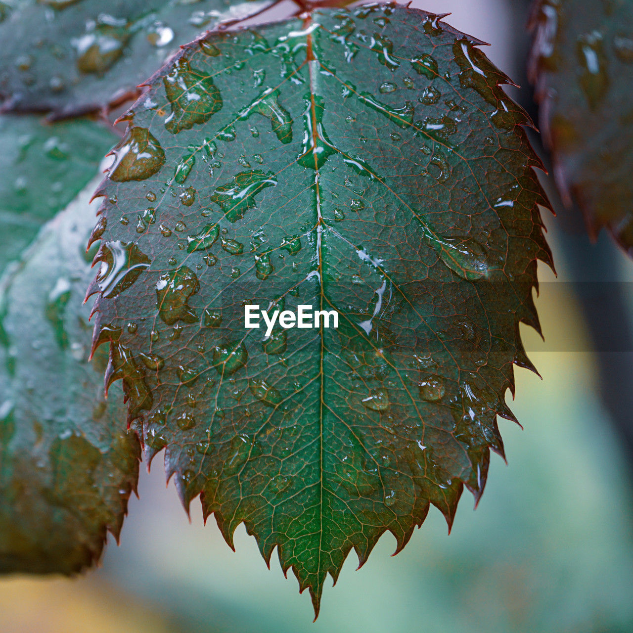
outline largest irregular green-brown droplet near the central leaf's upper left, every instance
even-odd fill
[[[173,65],[171,72],[163,77],[163,84],[172,105],[172,113],[165,119],[165,127],[172,134],[205,123],[222,108],[222,96],[213,78],[191,68],[185,58],[180,58]]]

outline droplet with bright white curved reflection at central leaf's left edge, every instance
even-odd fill
[[[106,298],[128,289],[151,263],[134,242],[119,241],[102,243],[95,261],[102,262],[96,283]]]

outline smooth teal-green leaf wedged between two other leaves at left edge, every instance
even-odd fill
[[[94,177],[115,140],[87,120],[0,116],[0,272]]]

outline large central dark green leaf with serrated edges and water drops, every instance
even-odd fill
[[[277,547],[315,610],[350,549],[479,497],[530,367],[547,202],[476,43],[393,5],[210,34],[126,115],[97,191],[107,382],[184,505]],[[244,304],[339,327],[266,337]]]

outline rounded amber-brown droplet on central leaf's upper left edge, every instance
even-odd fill
[[[165,163],[165,152],[147,128],[132,127],[114,149],[116,160],[110,169],[115,182],[145,180],[160,171]]]

